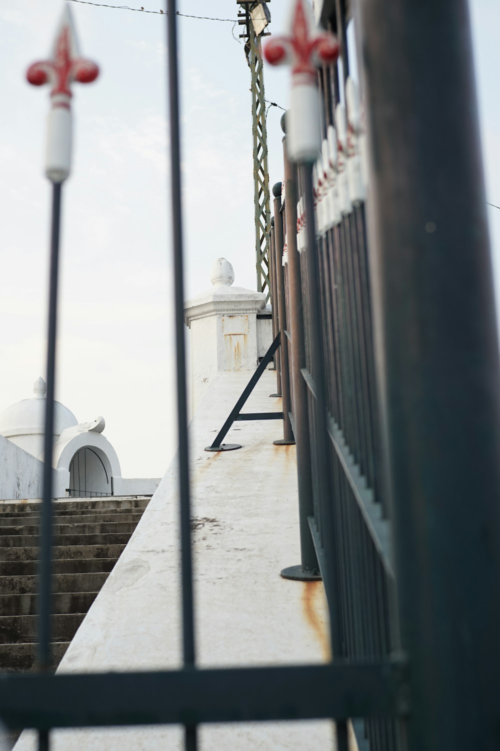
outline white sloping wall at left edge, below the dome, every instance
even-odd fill
[[[0,436],[0,499],[39,498],[43,463]]]

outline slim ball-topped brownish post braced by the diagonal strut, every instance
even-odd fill
[[[278,320],[280,338],[280,360],[282,369],[282,401],[283,401],[283,439],[274,441],[275,445],[290,445],[295,443],[294,431],[291,427],[290,411],[290,369],[288,364],[288,339],[286,335],[287,312],[285,304],[285,273],[283,272],[283,218],[280,213],[282,207],[282,183],[273,185],[274,196],[274,243],[276,288],[278,298]]]

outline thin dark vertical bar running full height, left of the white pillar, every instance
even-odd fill
[[[167,50],[170,113],[170,170],[175,287],[177,422],[179,430],[179,514],[182,570],[182,657],[185,668],[194,668],[194,592],[191,553],[191,499],[189,494],[188,400],[185,372],[184,275],[182,269],[182,205],[179,133],[179,74],[177,70],[176,0],[167,0]],[[197,732],[185,722],[185,749],[196,751]]]

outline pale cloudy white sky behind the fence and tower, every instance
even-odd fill
[[[107,0],[115,2],[115,0]],[[125,0],[124,0],[125,2]],[[161,0],[127,0],[159,10]],[[122,5],[122,0],[116,0]],[[273,0],[281,32],[288,0]],[[0,411],[45,374],[50,187],[42,174],[48,88],[25,82],[47,56],[62,0],[0,0]],[[64,189],[57,398],[79,421],[104,415],[126,477],[163,475],[176,446],[166,20],[71,3],[84,56],[74,86],[74,170]],[[236,0],[179,0],[236,18]],[[500,206],[500,3],[471,0],[488,201]],[[179,18],[186,296],[209,287],[218,256],[255,288],[250,73],[230,23]],[[235,35],[239,33],[237,27]],[[438,71],[436,71],[438,75]],[[288,75],[266,96],[288,105]],[[281,110],[268,113],[270,183],[282,178]],[[438,116],[438,113],[436,113]],[[500,210],[489,207],[500,280]],[[214,429],[220,426],[214,425]]]

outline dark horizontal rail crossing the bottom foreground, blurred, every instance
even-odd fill
[[[402,659],[137,673],[6,674],[0,716],[9,728],[198,725],[403,716]]]

